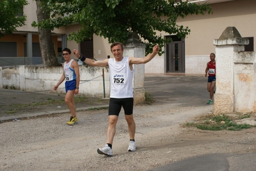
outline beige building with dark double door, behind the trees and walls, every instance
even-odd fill
[[[26,42],[31,41],[38,45],[37,28],[31,27],[31,22],[37,21],[35,1],[29,0],[30,4],[24,8],[27,15],[27,25],[17,28],[18,31],[13,35],[6,35],[0,39],[0,49],[4,42],[17,43],[15,51],[17,56],[25,57],[24,47]],[[245,47],[245,51],[254,51],[254,38],[256,37],[256,1],[255,0],[197,0],[191,3],[210,3],[212,14],[189,15],[185,19],[178,19],[177,24],[188,26],[191,33],[185,38],[177,38],[175,35],[161,33],[166,38],[172,38],[171,44],[163,47],[165,51],[162,56],[156,56],[145,65],[145,73],[181,73],[191,75],[203,75],[205,73],[206,63],[209,61],[209,54],[216,53],[213,40],[219,38],[219,35],[228,26],[234,26],[239,30],[241,36],[250,39],[250,44]],[[53,31],[53,44],[55,46],[56,56],[61,57],[61,49],[79,49],[81,53],[103,60],[112,58],[110,44],[103,37],[92,35],[91,40],[85,40],[80,44],[74,41],[67,41],[66,37],[74,31],[78,31],[80,26],[72,25],[65,28],[55,29]],[[31,38],[28,38],[31,37]],[[12,49],[13,51],[13,49]],[[34,53],[34,51],[33,51]],[[4,54],[1,54],[0,60]],[[218,54],[216,56],[218,60]]]

